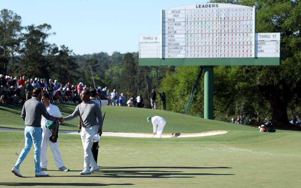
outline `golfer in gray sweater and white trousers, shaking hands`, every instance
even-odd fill
[[[81,137],[82,137],[82,145],[84,148],[84,170],[79,174],[86,175],[91,174],[97,170],[99,170],[98,165],[96,164],[93,155],[92,155],[92,139],[95,134],[102,134],[103,127],[103,116],[98,104],[90,100],[91,93],[88,90],[84,90],[81,93],[82,103],[77,105],[75,111],[64,118],[65,121],[69,121],[77,116],[79,116],[80,121],[82,123]],[[98,118],[98,127],[97,121]],[[91,169],[90,169],[91,166]]]

